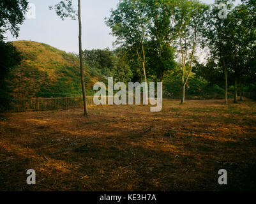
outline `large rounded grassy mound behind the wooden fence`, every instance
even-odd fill
[[[14,98],[81,96],[79,60],[73,54],[34,41],[13,41],[22,55],[20,66],[7,78]],[[84,67],[87,94],[104,81],[96,70]]]

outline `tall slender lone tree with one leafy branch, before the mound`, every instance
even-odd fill
[[[49,9],[52,10],[52,6],[49,6]],[[84,115],[87,115],[87,103],[86,103],[86,86],[84,84],[84,68],[83,68],[83,59],[82,59],[82,20],[81,20],[81,1],[78,0],[78,11],[73,9],[72,0],[60,1],[54,6],[54,10],[62,20],[64,18],[70,17],[72,20],[79,20],[79,60],[80,60],[80,76],[81,76],[81,85],[82,85],[82,95],[84,99]]]

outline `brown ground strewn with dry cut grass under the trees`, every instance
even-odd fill
[[[0,115],[1,191],[256,189],[256,103],[164,100]],[[27,169],[36,185],[26,184]],[[228,185],[218,184],[218,170]]]

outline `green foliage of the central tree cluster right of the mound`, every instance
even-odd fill
[[[154,75],[162,82],[164,73],[175,66],[174,48],[170,46],[174,43],[182,56],[181,78],[186,85],[207,9],[206,4],[193,0],[122,0],[106,23],[117,37],[116,43],[133,58],[133,75],[140,80],[143,70],[145,80],[146,75]],[[143,69],[139,69],[138,61]]]

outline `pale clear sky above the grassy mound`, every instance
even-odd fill
[[[78,21],[67,18],[61,20],[54,10],[60,0],[29,0],[35,6],[35,18],[26,18],[20,25],[19,37],[13,38],[6,34],[6,41],[31,40],[49,44],[66,52],[79,52]],[[110,16],[110,10],[115,9],[119,0],[81,0],[82,13],[82,49],[112,49],[115,38],[105,24],[105,17]],[[214,0],[202,0],[204,3],[213,3]],[[77,6],[77,1],[73,1]]]

